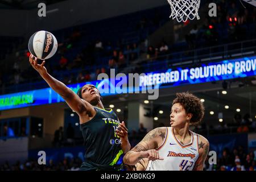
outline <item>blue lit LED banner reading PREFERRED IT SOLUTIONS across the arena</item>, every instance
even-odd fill
[[[200,84],[219,80],[255,76],[256,57],[243,57],[234,60],[224,60],[218,63],[201,64],[199,67],[168,69],[165,72],[154,73],[123,73],[115,75],[114,69],[110,77],[103,75],[100,80],[88,81],[80,84],[68,85],[75,93],[85,84],[96,85],[102,96],[122,93],[143,93],[153,88],[166,88],[186,84]],[[136,75],[137,74],[137,75]],[[133,82],[133,76],[137,81]],[[146,93],[146,92],[144,92]],[[53,104],[64,102],[51,88],[32,90],[0,96],[0,110],[16,109],[20,107]]]

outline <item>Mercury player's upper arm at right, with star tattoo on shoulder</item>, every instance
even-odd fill
[[[196,160],[193,171],[203,171],[205,159],[209,152],[209,142],[206,138],[199,135],[199,158]]]

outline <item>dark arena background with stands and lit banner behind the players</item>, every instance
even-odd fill
[[[255,171],[255,6],[201,0],[200,19],[179,22],[166,0],[0,1],[0,170],[78,171],[84,162],[79,116],[28,61],[30,36],[45,30],[58,42],[48,73],[74,92],[96,85],[131,147],[170,127],[172,101],[188,91],[205,106],[190,128],[210,143],[204,171]],[[118,73],[127,84],[130,73],[144,75],[128,89]]]

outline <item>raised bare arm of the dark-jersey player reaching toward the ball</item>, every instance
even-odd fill
[[[34,59],[35,58],[35,59]],[[79,96],[71,89],[69,89],[63,82],[56,80],[47,72],[46,67],[44,64],[46,61],[43,61],[42,64],[37,63],[37,58],[33,55],[30,55],[30,64],[32,67],[39,72],[40,76],[46,80],[47,84],[55,90],[60,96],[67,102],[67,104],[71,107],[71,109],[75,110],[77,114],[81,114],[83,111],[86,111],[92,107],[86,101],[81,100]]]

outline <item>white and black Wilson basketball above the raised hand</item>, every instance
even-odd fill
[[[57,51],[57,39],[51,32],[38,31],[30,37],[28,41],[28,50],[38,59],[49,59]]]

